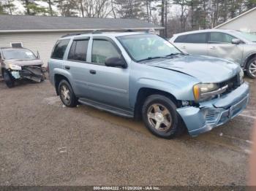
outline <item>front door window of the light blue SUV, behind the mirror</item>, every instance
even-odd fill
[[[121,58],[121,55],[111,42],[102,39],[94,40],[91,52],[92,63],[105,65],[105,60],[112,57]]]

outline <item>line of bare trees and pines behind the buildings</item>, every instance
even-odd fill
[[[0,0],[0,14],[136,18],[165,27],[163,36],[213,28],[253,7],[256,0]]]

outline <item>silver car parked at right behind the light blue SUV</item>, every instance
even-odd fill
[[[208,29],[175,34],[170,42],[183,52],[225,58],[241,65],[256,78],[256,35],[226,29]]]

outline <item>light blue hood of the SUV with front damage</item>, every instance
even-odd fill
[[[178,55],[164,61],[146,63],[162,69],[178,71],[195,77],[200,82],[223,82],[240,71],[236,63],[201,55]]]

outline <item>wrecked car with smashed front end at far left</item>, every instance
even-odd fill
[[[31,79],[34,82],[45,80],[45,70],[42,61],[26,48],[0,48],[1,75],[7,87],[14,87],[15,81]]]

